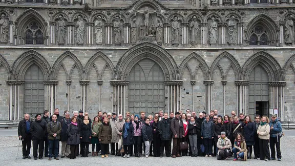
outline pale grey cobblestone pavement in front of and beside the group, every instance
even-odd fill
[[[256,159],[244,161],[232,161],[233,157],[228,160],[216,160],[216,157],[212,158],[205,158],[205,157],[181,157],[181,158],[159,158],[159,157],[141,157],[135,158],[132,156],[131,158],[122,158],[122,157],[115,157],[110,156],[109,158],[101,158],[98,157],[90,157],[88,158],[81,158],[77,157],[77,159],[69,159],[69,158],[60,158],[60,160],[52,160],[48,161],[48,158],[44,157],[43,160],[34,160],[34,159],[22,159],[22,147],[19,147],[18,157],[16,159],[17,150],[18,150],[18,137],[0,137],[0,163],[1,165],[68,165],[71,163],[76,164],[83,164],[83,165],[216,165],[216,164],[234,164],[234,165],[260,165],[260,166],[269,166],[269,165],[293,165],[293,157],[295,152],[295,137],[292,136],[283,136],[281,139],[281,151],[282,151],[282,161],[271,160],[269,162],[266,161],[259,161]],[[20,145],[21,146],[21,145]],[[252,154],[253,156],[254,154]],[[31,157],[32,155],[32,148],[31,148]],[[217,163],[218,162],[218,163]]]

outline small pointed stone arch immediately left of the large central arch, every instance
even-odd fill
[[[94,65],[94,61],[95,61],[95,59],[96,59],[97,57],[102,57],[104,60],[106,60],[106,62],[107,62],[106,65],[109,67],[109,69],[110,69],[111,72],[112,72],[112,79],[115,78],[115,73],[114,73],[114,71],[115,71],[115,67],[114,67],[114,64],[112,63],[112,61],[110,60],[110,58],[109,58],[106,54],[104,54],[104,53],[101,52],[101,51],[98,51],[97,53],[95,53],[95,54],[94,54],[94,55],[93,55],[93,56],[87,61],[87,64],[86,64],[86,66],[85,66],[85,79],[89,79],[90,71],[91,71],[92,67],[95,66],[95,65]],[[95,68],[96,68],[96,66],[95,66]],[[106,68],[106,66],[103,67],[101,73],[99,73],[99,72],[98,72],[98,69],[96,68],[96,73],[99,74],[99,75],[98,75],[98,78],[101,78],[101,74],[102,74],[104,68]]]

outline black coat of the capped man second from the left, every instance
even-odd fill
[[[47,132],[46,122],[44,120],[33,121],[30,128],[32,139],[44,139],[45,132]]]

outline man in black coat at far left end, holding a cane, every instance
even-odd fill
[[[31,158],[30,151],[31,151],[31,142],[32,142],[32,135],[31,135],[31,120],[30,115],[25,114],[24,120],[19,121],[18,123],[18,137],[22,139],[23,144],[23,159]]]

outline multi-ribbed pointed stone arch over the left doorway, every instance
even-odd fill
[[[28,50],[16,58],[12,65],[11,79],[24,80],[26,71],[32,64],[41,69],[45,80],[51,79],[51,68],[47,59],[35,50]]]

